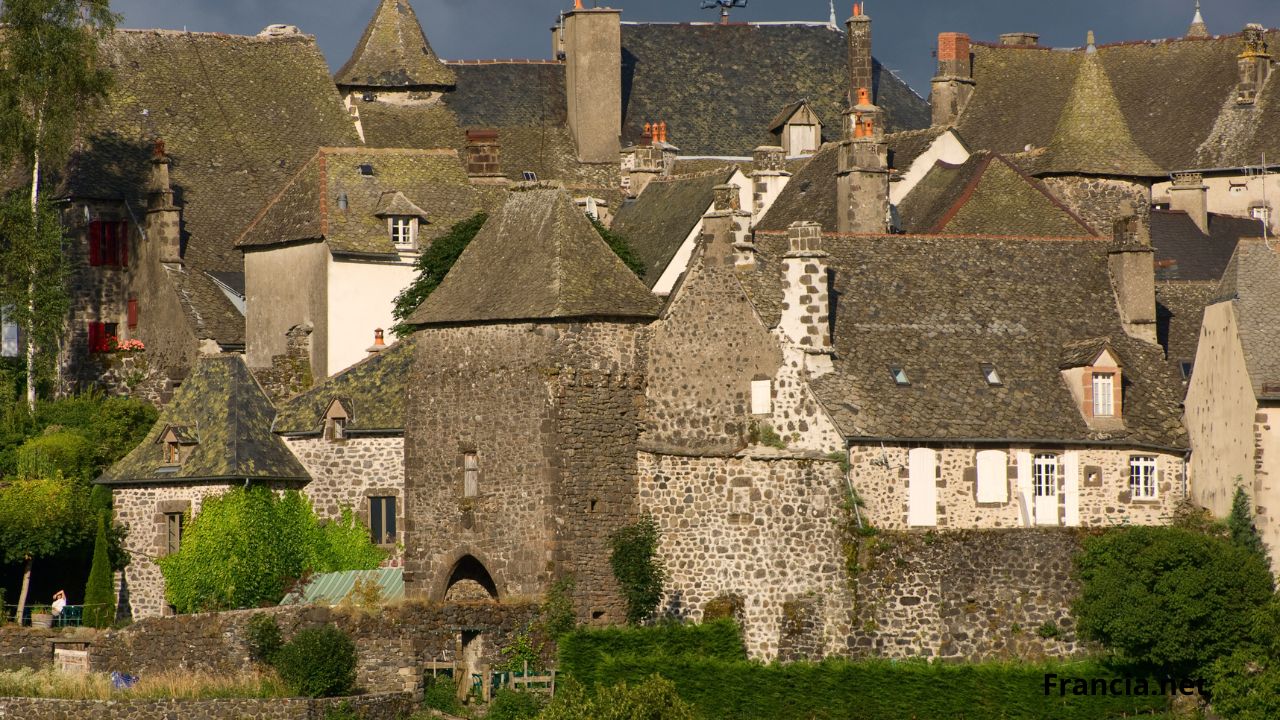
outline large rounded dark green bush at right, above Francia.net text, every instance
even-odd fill
[[[1125,528],[1085,541],[1073,610],[1083,637],[1180,676],[1229,655],[1272,593],[1270,568],[1231,541]]]

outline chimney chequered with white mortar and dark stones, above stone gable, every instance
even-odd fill
[[[822,225],[791,223],[787,254],[782,256],[782,319],[786,338],[810,355],[829,355],[831,288]]]

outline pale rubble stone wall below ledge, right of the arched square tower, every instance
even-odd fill
[[[850,614],[844,492],[828,460],[641,454],[640,507],[662,529],[667,612],[700,620],[708,602],[740,596],[753,657],[838,653]]]

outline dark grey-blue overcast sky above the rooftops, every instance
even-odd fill
[[[572,0],[412,0],[431,46],[447,59],[545,58],[549,28]],[[591,0],[588,0],[588,5]],[[1238,32],[1244,23],[1280,24],[1277,0],[1203,0],[1212,33]],[[124,27],[187,28],[253,35],[271,23],[294,24],[315,35],[337,69],[346,61],[378,0],[113,0]],[[701,0],[608,0],[625,20],[709,20]],[[836,4],[841,23],[851,0]],[[874,54],[923,96],[929,94],[934,38],[942,31],[996,40],[1001,32],[1029,31],[1053,46],[1083,45],[1088,29],[1098,42],[1176,37],[1187,31],[1194,0],[870,0]],[[735,20],[826,20],[828,0],[750,0]]]

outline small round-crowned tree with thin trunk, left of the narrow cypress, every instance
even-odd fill
[[[86,542],[92,532],[88,519],[87,493],[60,475],[17,479],[0,488],[0,559],[23,564],[18,621],[35,561]]]

